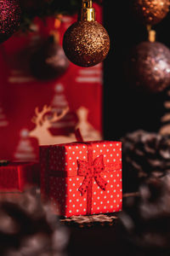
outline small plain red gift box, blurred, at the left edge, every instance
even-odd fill
[[[40,185],[40,166],[36,162],[9,162],[0,166],[0,191],[23,192]]]

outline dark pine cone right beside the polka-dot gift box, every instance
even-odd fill
[[[148,177],[161,177],[170,170],[170,137],[133,131],[122,137],[124,191],[137,191]]]

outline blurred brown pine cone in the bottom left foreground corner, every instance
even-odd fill
[[[67,241],[67,230],[37,195],[0,201],[1,256],[63,256]]]

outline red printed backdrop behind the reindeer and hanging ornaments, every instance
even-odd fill
[[[97,20],[102,20],[102,10],[95,5]],[[59,27],[60,42],[65,30],[74,17],[64,16]],[[62,84],[65,101],[71,113],[77,108],[88,108],[88,121],[95,129],[102,131],[102,64],[96,67],[77,67],[70,63],[66,73],[58,79],[40,81],[32,77],[29,67],[31,51],[37,38],[47,38],[54,29],[54,19],[48,18],[46,24],[36,20],[37,32],[17,33],[0,45],[0,159],[37,160],[38,141],[28,137],[35,124],[31,122],[36,107],[51,105],[57,95],[56,86]],[[59,95],[58,95],[59,96]],[[70,131],[68,125],[62,133]],[[54,135],[60,134],[58,129]]]

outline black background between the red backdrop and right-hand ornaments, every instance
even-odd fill
[[[138,91],[127,81],[127,56],[136,44],[147,40],[146,27],[135,20],[130,1],[104,1],[104,26],[111,37],[111,50],[104,61],[104,137],[116,140],[128,131],[158,131],[166,92]],[[153,26],[156,41],[170,47],[170,14]]]

